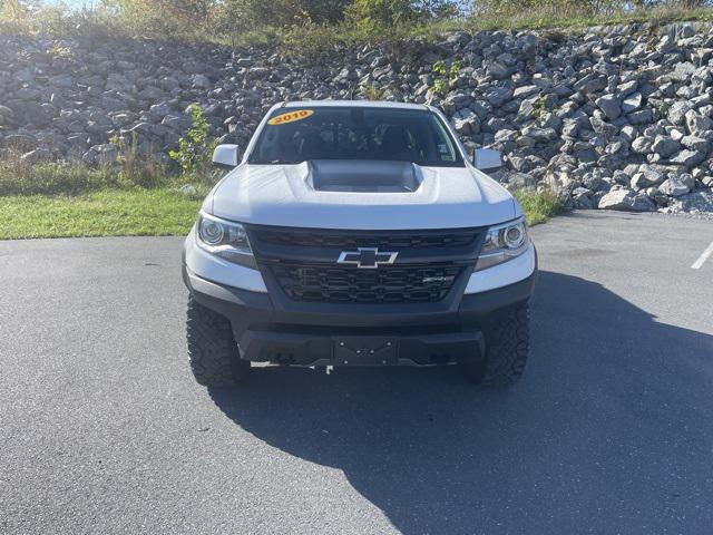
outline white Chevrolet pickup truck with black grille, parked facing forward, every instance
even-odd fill
[[[274,106],[184,245],[196,380],[251,362],[459,364],[476,383],[522,373],[537,254],[517,201],[424,105]]]

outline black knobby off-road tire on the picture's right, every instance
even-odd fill
[[[463,364],[476,385],[506,388],[525,370],[530,342],[530,311],[527,302],[512,307],[485,329],[486,357]]]

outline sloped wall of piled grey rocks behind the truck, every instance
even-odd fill
[[[442,97],[432,95],[436,61],[460,64]],[[367,46],[316,62],[265,49],[0,36],[0,147],[30,162],[113,160],[118,138],[166,157],[192,103],[213,135],[245,146],[274,103],[364,94],[440,106],[467,142],[506,155],[499,179],[511,186],[546,185],[578,208],[713,212],[707,26],[457,32],[407,55]]]

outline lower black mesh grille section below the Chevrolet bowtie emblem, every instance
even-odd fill
[[[271,264],[289,298],[326,303],[429,303],[442,300],[462,265],[359,270],[331,265]]]

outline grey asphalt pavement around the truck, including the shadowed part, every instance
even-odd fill
[[[191,377],[180,239],[0,242],[2,534],[707,534],[713,221],[537,226],[522,381]]]

